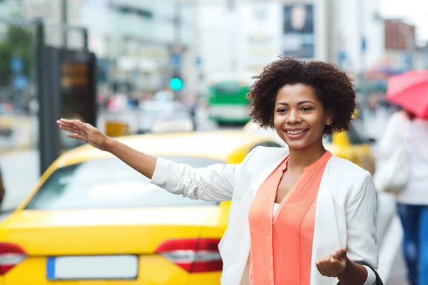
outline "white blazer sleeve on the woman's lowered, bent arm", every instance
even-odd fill
[[[376,233],[376,192],[369,172],[365,172],[347,199],[347,257],[378,267]]]

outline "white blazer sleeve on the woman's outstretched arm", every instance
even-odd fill
[[[239,164],[217,163],[203,168],[194,168],[158,157],[151,183],[190,199],[228,201],[232,199],[240,170],[256,149],[257,147],[251,150]]]

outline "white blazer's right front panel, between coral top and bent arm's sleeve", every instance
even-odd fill
[[[337,247],[340,247],[335,204],[330,189],[330,165],[332,162],[334,163],[334,157],[327,162],[317,197],[310,276],[310,284],[314,285],[335,285],[338,282],[335,278],[322,276],[316,266],[316,262],[325,257],[325,254],[329,254]]]

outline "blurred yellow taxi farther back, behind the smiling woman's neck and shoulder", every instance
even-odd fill
[[[269,135],[277,144],[287,147],[275,130],[260,128],[253,121],[248,122],[243,130],[245,133]],[[374,173],[374,156],[372,155],[371,147],[358,135],[353,123],[351,123],[350,130],[347,132],[335,133],[324,138],[324,145],[333,155],[350,160],[371,174]]]

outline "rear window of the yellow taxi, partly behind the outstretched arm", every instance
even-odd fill
[[[164,157],[193,167],[219,160],[201,157]],[[213,205],[160,189],[117,158],[88,160],[58,168],[41,185],[25,209],[107,209],[124,207],[180,207]]]

